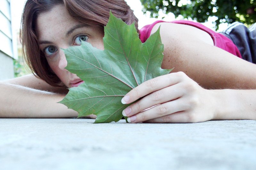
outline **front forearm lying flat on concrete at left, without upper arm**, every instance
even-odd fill
[[[57,103],[64,98],[64,94],[6,83],[0,83],[0,93],[2,118],[77,117],[77,112]]]

